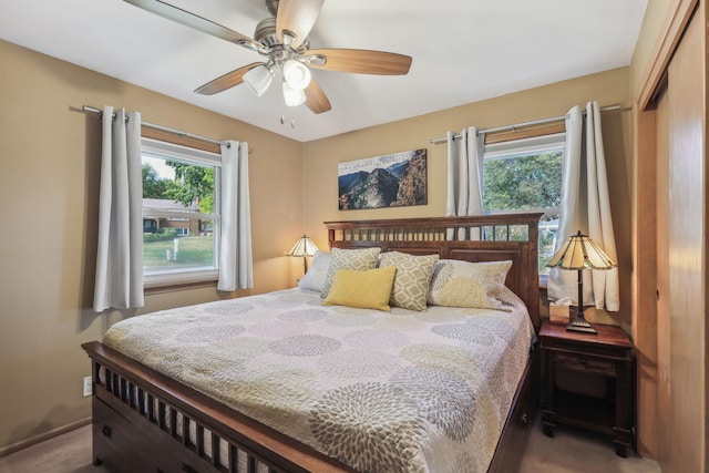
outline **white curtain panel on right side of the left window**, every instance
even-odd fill
[[[222,234],[217,289],[254,287],[248,143],[222,143]]]

